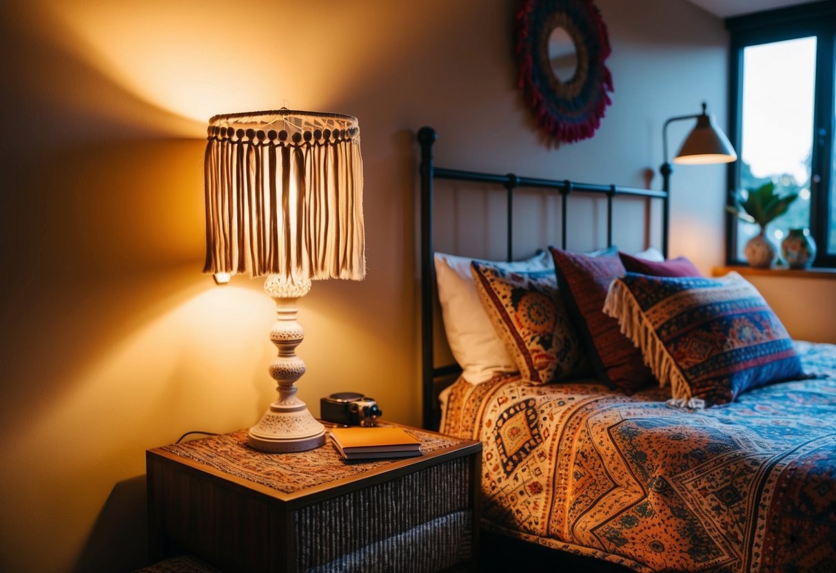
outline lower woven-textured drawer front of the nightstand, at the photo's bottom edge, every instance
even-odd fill
[[[307,573],[429,573],[471,558],[472,515],[456,511],[377,541]]]

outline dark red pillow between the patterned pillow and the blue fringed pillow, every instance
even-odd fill
[[[625,393],[653,382],[641,352],[604,314],[609,283],[624,275],[617,255],[588,256],[548,247],[558,274],[558,290],[566,302],[598,377]]]

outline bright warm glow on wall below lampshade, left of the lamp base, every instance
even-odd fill
[[[106,352],[96,355],[91,349],[89,368],[80,377],[84,384],[44,408],[44,419],[32,420],[27,431],[42,434],[47,449],[59,428],[69,427],[81,434],[100,432],[99,440],[113,440],[117,447],[126,434],[146,441],[161,417],[179,418],[175,425],[184,431],[229,431],[256,418],[272,393],[263,383],[268,378],[263,354],[270,346],[264,329],[272,303],[257,288],[216,287],[203,276],[199,281],[204,292],[124,332],[120,342],[113,340],[118,332],[110,333],[99,346]],[[129,373],[145,383],[120,383]],[[212,408],[212,420],[206,419],[206,408]],[[79,411],[96,415],[79,427],[73,422]],[[79,452],[68,455],[78,458]]]

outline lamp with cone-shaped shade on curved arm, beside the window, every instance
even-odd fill
[[[659,168],[662,174],[662,190],[670,193],[670,174],[673,173],[673,167],[668,160],[668,125],[675,121],[683,121],[686,119],[696,119],[694,129],[688,134],[679,153],[674,157],[674,163],[682,165],[710,165],[714,163],[732,163],[737,160],[732,144],[723,133],[722,129],[717,127],[714,123],[714,118],[706,114],[706,104],[702,104],[701,114],[678,115],[676,117],[665,120],[662,126],[662,154],[665,157],[665,162]],[[665,219],[665,229],[668,228],[669,204],[670,200],[663,201],[664,213],[662,216]],[[668,256],[668,239],[665,234],[662,245],[662,253]]]

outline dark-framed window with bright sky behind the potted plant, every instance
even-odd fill
[[[814,265],[836,266],[836,3],[729,18],[726,28],[732,40],[729,134],[740,158],[729,168],[730,188],[754,189],[771,180],[781,195],[798,195],[767,226],[767,236],[780,246],[789,229],[808,228],[818,245]],[[727,261],[742,262],[758,228],[730,216],[727,230]]]

